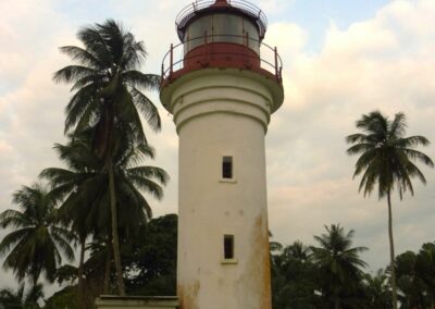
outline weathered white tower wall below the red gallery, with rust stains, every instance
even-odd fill
[[[271,308],[264,135],[273,96],[250,74],[200,72],[162,94],[179,136],[181,308]],[[224,156],[232,181],[222,180]],[[226,234],[235,238],[229,262]]]

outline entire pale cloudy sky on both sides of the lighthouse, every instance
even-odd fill
[[[358,194],[352,181],[357,158],[346,154],[345,137],[355,122],[381,110],[403,112],[408,135],[435,143],[434,0],[251,0],[268,16],[264,41],[284,62],[283,107],[266,135],[270,230],[284,245],[314,244],[324,225],[356,231],[355,245],[366,246],[369,271],[388,262],[387,208],[376,195]],[[146,44],[142,71],[160,73],[164,53],[178,44],[174,20],[187,0],[0,0],[0,211],[15,206],[12,193],[32,185],[39,172],[62,166],[52,146],[65,141],[67,85],[52,74],[69,65],[59,47],[79,45],[77,30],[107,18],[123,23]],[[159,106],[163,128],[146,128],[157,149],[153,164],[171,182],[154,217],[177,211],[175,126]],[[435,159],[435,148],[421,148]],[[393,199],[396,252],[418,250],[435,240],[435,174],[422,168],[427,185],[414,182],[414,196]],[[0,238],[4,236],[0,231]],[[0,263],[2,259],[0,258]],[[0,288],[13,286],[0,270]]]

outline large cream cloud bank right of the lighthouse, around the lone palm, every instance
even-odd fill
[[[316,53],[307,51],[304,39],[284,42],[284,52],[278,45],[290,63],[284,71],[285,103],[272,118],[266,148],[275,239],[312,244],[323,224],[341,223],[357,230],[358,245],[371,248],[365,257],[372,268],[386,264],[385,201],[375,194],[365,199],[358,195],[359,180],[351,181],[356,158],[347,158],[344,138],[357,131],[361,114],[380,109],[390,118],[405,112],[409,135],[435,140],[435,27],[426,24],[434,15],[433,1],[394,1],[347,28],[331,24]],[[272,40],[303,33],[287,29],[287,35],[282,28],[270,26]],[[433,146],[422,150],[435,157]],[[435,176],[432,170],[423,172],[427,186],[415,181],[415,197],[394,201],[397,252],[435,238]]]

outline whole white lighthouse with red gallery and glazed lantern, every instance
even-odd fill
[[[181,309],[268,309],[264,136],[284,98],[281,60],[246,1],[196,1],[176,26],[161,101],[179,136]]]

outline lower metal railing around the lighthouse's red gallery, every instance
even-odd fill
[[[213,42],[227,42],[219,40],[220,37],[234,37],[239,38],[243,44],[241,46],[246,46],[252,50],[252,54],[250,53],[240,53],[234,51],[216,51],[211,52],[208,51],[206,53],[192,53],[189,55],[189,52],[185,54],[185,45],[200,40],[202,44],[199,46],[207,46],[208,44]],[[217,40],[216,40],[217,39]],[[258,45],[259,52],[252,49],[249,46]],[[190,50],[189,50],[190,51]],[[256,55],[253,55],[256,54]],[[276,79],[281,83],[282,82],[282,71],[283,71],[283,61],[277,52],[276,47],[272,48],[271,46],[253,38],[249,38],[247,36],[236,36],[236,35],[206,35],[201,37],[196,37],[190,40],[186,40],[184,44],[178,45],[171,45],[170,50],[165,53],[162,61],[162,79],[170,78],[174,72],[183,70],[185,66],[185,62],[194,59],[203,59],[211,55],[235,55],[240,58],[252,59],[253,61],[260,62],[260,69],[268,71],[269,73],[273,74]]]

